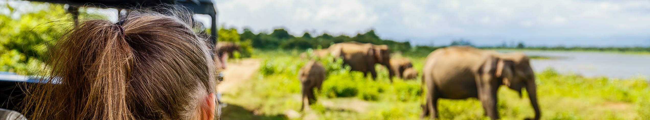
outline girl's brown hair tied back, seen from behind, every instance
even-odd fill
[[[182,16],[181,16],[182,15]],[[207,40],[187,14],[135,10],[87,20],[53,47],[51,76],[34,87],[31,119],[188,119],[215,93]]]

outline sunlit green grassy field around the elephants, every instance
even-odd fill
[[[300,82],[296,77],[305,60],[302,51],[255,51],[260,58],[257,76],[225,94],[224,119],[419,119],[424,103],[421,80],[395,79],[378,67],[378,80],[348,72],[341,63],[322,61],[328,69],[318,101],[300,112]],[[393,57],[404,57],[396,55]],[[424,57],[411,58],[421,70]],[[340,60],[339,60],[340,61]],[[558,73],[549,68],[536,71],[542,119],[650,119],[650,89],[645,78],[586,78]],[[523,92],[525,93],[525,92]],[[502,119],[533,117],[526,95],[499,90]],[[487,119],[476,99],[439,102],[441,119]]]

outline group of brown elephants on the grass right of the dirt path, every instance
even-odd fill
[[[305,55],[301,54],[302,58]],[[391,58],[387,45],[371,43],[343,42],[335,43],[327,49],[313,51],[318,57],[328,55],[340,56],[344,66],[351,71],[361,71],[367,77],[377,77],[375,64],[389,69],[389,79],[393,76],[403,79],[415,79],[418,76],[413,64],[406,58]],[[320,90],[326,70],[320,62],[310,60],[298,72],[302,82],[302,106],[316,100],[314,88]],[[537,102],[535,76],[530,67],[530,58],[521,53],[497,53],[467,46],[451,46],[436,49],[430,53],[422,69],[422,86],[426,87],[426,104],[422,105],[421,117],[430,115],[437,118],[437,100],[478,98],[483,105],[485,115],[499,119],[497,111],[497,90],[499,86],[518,91],[526,88],[530,104],[534,109],[534,119],[539,119],[541,111]]]

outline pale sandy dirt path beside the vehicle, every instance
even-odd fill
[[[217,85],[217,91],[220,93],[236,90],[234,88],[239,84],[245,83],[246,80],[255,75],[260,64],[259,59],[253,58],[242,59],[239,62],[235,62],[235,60],[229,61],[227,69],[224,71],[224,81]]]

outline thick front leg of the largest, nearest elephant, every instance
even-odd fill
[[[491,77],[484,77],[491,78]],[[478,99],[483,105],[483,110],[485,114],[490,117],[490,119],[499,119],[499,111],[497,110],[497,90],[499,89],[499,84],[496,80],[479,80],[478,84]]]

